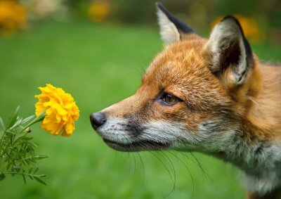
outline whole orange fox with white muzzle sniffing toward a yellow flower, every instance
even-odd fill
[[[281,67],[226,15],[208,39],[157,2],[164,49],[129,98],[90,115],[115,150],[197,151],[230,162],[248,199],[281,198]]]

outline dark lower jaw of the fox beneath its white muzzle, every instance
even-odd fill
[[[157,141],[135,141],[132,143],[118,143],[117,141],[110,141],[108,139],[103,139],[103,141],[115,150],[126,151],[126,152],[134,152],[140,150],[163,150],[170,146],[169,143],[162,143]]]

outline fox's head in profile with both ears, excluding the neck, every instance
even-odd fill
[[[90,116],[115,150],[220,153],[249,117],[260,75],[242,27],[226,16],[209,39],[157,3],[164,50],[136,94]]]

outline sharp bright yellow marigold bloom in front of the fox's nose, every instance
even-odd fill
[[[45,111],[41,128],[54,135],[70,136],[74,131],[74,121],[79,118],[79,109],[70,94],[51,84],[39,87],[41,94],[36,95],[39,101],[35,104],[35,114]]]

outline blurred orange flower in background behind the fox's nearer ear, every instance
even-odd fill
[[[239,20],[244,35],[249,39],[249,41],[254,43],[262,43],[266,39],[266,34],[259,28],[258,23],[253,18],[245,17],[240,14],[234,14],[235,18]],[[214,18],[211,21],[211,28],[213,28],[217,23],[219,23],[223,19],[223,16],[219,16]]]

